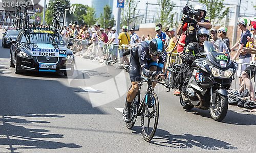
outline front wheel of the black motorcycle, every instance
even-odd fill
[[[227,115],[228,98],[218,92],[214,92],[214,94],[216,94],[216,98],[212,99],[212,104],[210,104],[210,116],[216,121],[222,121]]]

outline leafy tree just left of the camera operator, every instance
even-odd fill
[[[158,14],[158,19],[156,22],[162,23],[162,25],[170,25],[173,27],[175,25],[174,22],[174,13],[170,13],[175,4],[170,0],[158,0],[158,5],[160,6],[160,14]]]

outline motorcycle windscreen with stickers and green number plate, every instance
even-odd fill
[[[205,41],[204,52],[206,58],[221,68],[231,64],[230,54],[227,45],[223,41]]]

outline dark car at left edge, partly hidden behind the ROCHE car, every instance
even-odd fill
[[[2,46],[5,47],[10,47],[11,46],[11,40],[16,40],[18,34],[20,31],[18,30],[12,30],[12,29],[7,29],[5,33],[3,33],[3,38],[2,38]]]

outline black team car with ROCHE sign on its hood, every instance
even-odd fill
[[[16,74],[24,71],[63,72],[73,75],[74,54],[57,32],[50,30],[26,30],[12,41],[10,66]]]

